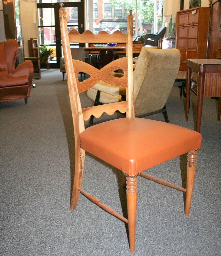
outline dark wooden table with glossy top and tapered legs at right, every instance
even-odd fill
[[[198,73],[197,79],[197,120],[196,131],[200,132],[203,97],[219,97],[218,122],[221,112],[221,60],[187,59],[186,60],[186,121],[189,115],[191,70]]]

